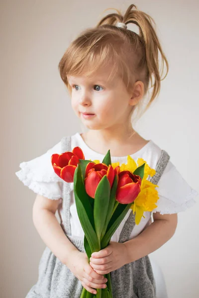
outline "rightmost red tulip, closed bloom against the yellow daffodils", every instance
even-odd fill
[[[134,202],[140,192],[141,181],[140,176],[134,175],[128,170],[118,173],[116,201],[121,204]]]

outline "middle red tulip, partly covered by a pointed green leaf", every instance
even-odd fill
[[[96,189],[102,177],[106,175],[110,183],[110,188],[112,187],[115,172],[113,167],[105,163],[94,163],[89,162],[85,171],[85,189],[87,194],[95,199]]]

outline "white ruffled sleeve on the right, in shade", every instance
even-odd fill
[[[158,184],[159,200],[152,213],[173,214],[194,206],[199,193],[193,189],[169,160]]]

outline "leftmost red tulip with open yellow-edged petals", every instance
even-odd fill
[[[72,152],[67,151],[61,154],[53,154],[51,163],[55,173],[66,182],[73,182],[75,169],[80,163],[79,159],[85,159],[80,147],[75,147]]]

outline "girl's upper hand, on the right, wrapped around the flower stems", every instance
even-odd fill
[[[109,245],[90,258],[93,269],[103,275],[128,264],[127,248],[124,243],[110,241]]]

